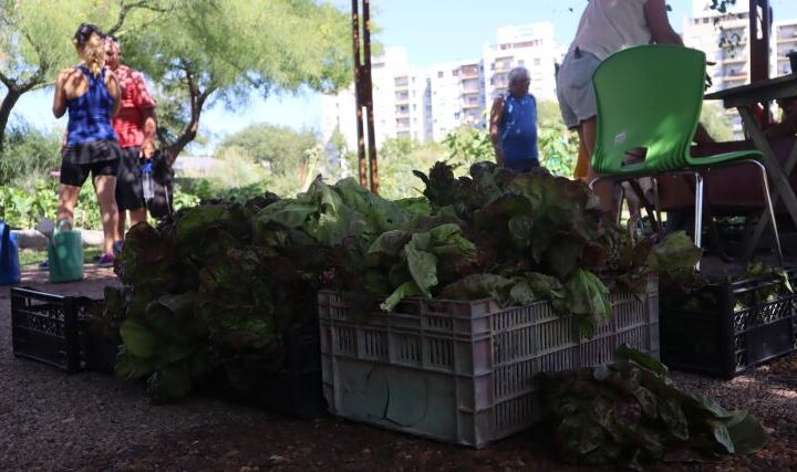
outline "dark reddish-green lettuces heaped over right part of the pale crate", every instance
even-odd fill
[[[520,305],[551,300],[588,337],[611,315],[610,287],[644,293],[651,272],[691,268],[700,255],[683,234],[667,237],[661,254],[650,240],[631,241],[599,210],[586,183],[546,169],[518,175],[478,162],[457,179],[451,166],[437,162],[428,176],[415,175],[426,185],[432,214],[454,219],[478,251],[475,263],[452,258],[457,276],[441,287],[444,296],[497,296]],[[420,283],[401,289],[429,292]]]

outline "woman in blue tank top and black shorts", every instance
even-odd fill
[[[116,234],[116,170],[122,149],[111,126],[118,113],[120,86],[113,72],[105,67],[103,33],[83,23],[72,43],[81,59],[76,67],[61,71],[55,81],[53,115],[60,118],[69,111],[66,139],[62,151],[58,220],[70,225],[80,189],[91,174],[94,180],[105,237],[102,265],[113,264]]]

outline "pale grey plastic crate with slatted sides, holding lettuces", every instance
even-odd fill
[[[483,447],[538,417],[532,377],[611,360],[625,343],[659,357],[659,292],[611,295],[592,339],[550,303],[412,298],[358,321],[337,292],[319,293],[321,368],[330,411],[446,442]]]

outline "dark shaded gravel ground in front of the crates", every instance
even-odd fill
[[[23,283],[50,293],[99,297],[111,270],[80,283],[50,285],[25,271]],[[141,385],[99,374],[66,375],[11,353],[9,289],[0,287],[0,470],[576,470],[549,452],[540,431],[472,450],[331,417],[293,420],[214,398],[151,406]],[[748,408],[770,432],[754,457],[721,464],[654,470],[797,469],[797,356],[732,381],[675,374],[680,385],[726,408]],[[601,470],[601,469],[594,469]],[[609,470],[609,469],[607,469]]]

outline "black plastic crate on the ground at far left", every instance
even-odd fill
[[[83,321],[97,302],[30,287],[11,289],[13,354],[76,373],[86,366]]]

